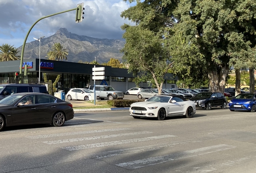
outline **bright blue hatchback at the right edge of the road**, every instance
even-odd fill
[[[251,111],[256,110],[256,94],[244,93],[237,95],[234,99],[229,101],[230,111]]]

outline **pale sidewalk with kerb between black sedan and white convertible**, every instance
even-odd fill
[[[97,108],[99,105],[94,105],[94,101],[91,103],[85,102],[85,101],[68,101],[73,105],[73,108],[75,107],[95,107],[95,109],[74,109],[74,112],[96,112],[96,111],[127,111],[129,108]],[[96,102],[97,104],[97,102]]]

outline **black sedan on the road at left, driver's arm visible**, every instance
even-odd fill
[[[0,101],[0,131],[6,126],[64,125],[74,118],[72,104],[42,93],[17,93]]]

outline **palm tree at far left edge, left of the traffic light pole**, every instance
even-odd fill
[[[21,56],[17,56],[19,51],[13,46],[14,45],[11,46],[10,44],[2,44],[2,46],[0,46],[0,61],[20,59]]]

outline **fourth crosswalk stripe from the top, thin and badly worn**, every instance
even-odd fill
[[[120,150],[115,150],[115,151],[106,151],[106,152],[94,155],[93,157],[96,157],[97,159],[101,159],[101,158],[121,155],[121,154],[124,154],[124,153],[132,153],[132,152],[140,153],[142,151],[154,151],[154,150],[157,150],[157,149],[161,149],[163,147],[174,147],[175,145],[201,142],[201,141],[190,141],[190,140],[191,139],[183,140],[183,141],[175,141],[174,143],[171,143],[171,144],[170,143],[162,143],[162,144],[148,145],[148,146],[143,146],[143,147],[134,147],[134,148],[129,148],[129,149],[120,149]]]

